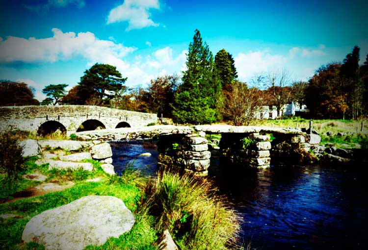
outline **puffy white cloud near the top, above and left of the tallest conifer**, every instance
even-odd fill
[[[123,4],[110,10],[107,24],[128,22],[127,31],[149,26],[158,26],[150,19],[150,9],[159,9],[158,0],[125,0]]]

